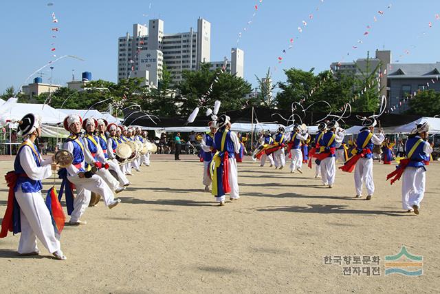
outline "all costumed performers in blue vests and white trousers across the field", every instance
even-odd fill
[[[377,120],[366,118],[356,140],[344,143],[345,131],[338,121],[327,121],[318,125],[318,133],[312,138],[303,125],[294,125],[291,132],[278,127],[276,134],[265,131],[261,134],[252,154],[254,161],[260,160],[261,167],[266,161],[270,167],[281,170],[291,160],[290,173],[303,174],[303,164],[315,167],[315,178],[321,178],[322,185],[332,188],[336,185],[336,160],[343,162],[342,171],[354,170],[355,197],[362,197],[366,188],[366,200],[371,200],[375,192],[373,180],[373,158],[377,146],[384,149],[384,163],[391,162],[394,155],[392,145],[386,140],[382,129],[375,133]],[[221,115],[208,125],[206,134],[190,134],[190,142],[200,145],[199,158],[203,162],[202,183],[206,191],[219,206],[225,206],[226,195],[230,201],[240,199],[237,162],[247,153],[248,136],[236,134],[231,130],[230,118]],[[59,227],[56,226],[56,205],[65,196],[68,224],[86,224],[83,216],[87,207],[93,207],[102,197],[109,209],[116,207],[120,200],[115,194],[121,193],[131,185],[127,176],[140,171],[142,165],[150,165],[150,153],[124,153],[129,143],[143,145],[149,143],[148,133],[140,127],[126,127],[107,124],[105,120],[82,118],[76,114],[64,120],[69,137],[61,151],[43,160],[36,140],[41,136],[41,123],[33,114],[22,118],[19,131],[25,138],[20,145],[14,161],[14,171],[6,175],[8,182],[8,207],[1,224],[0,238],[8,231],[20,233],[19,255],[38,255],[37,238],[58,260],[66,257],[61,251]],[[429,164],[432,144],[428,142],[429,126],[419,124],[408,135],[404,143],[397,143],[399,166],[391,171],[387,179],[391,183],[402,178],[402,207],[408,212],[419,214],[421,200],[425,191],[426,168]],[[166,136],[163,143],[166,144]],[[160,141],[162,138],[160,138]],[[177,133],[172,138],[175,145],[175,160],[179,160],[181,145],[185,141]],[[161,148],[164,146],[160,146]],[[124,149],[125,148],[125,149]],[[388,154],[387,154],[388,152]],[[124,155],[125,154],[125,155]],[[62,184],[58,198],[52,204],[45,202],[41,195],[42,180],[50,178],[58,170]],[[211,188],[210,188],[211,187]],[[74,196],[74,189],[76,195]],[[59,203],[58,203],[59,204]],[[55,210],[54,210],[55,209]],[[64,223],[64,222],[63,222]]]

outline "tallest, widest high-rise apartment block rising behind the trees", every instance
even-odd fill
[[[173,83],[178,83],[183,70],[197,70],[201,62],[210,61],[210,43],[211,24],[205,19],[197,19],[197,32],[190,28],[189,32],[177,34],[164,34],[161,19],[151,19],[148,28],[135,23],[132,36],[127,32],[118,39],[118,81],[149,76],[148,84],[155,87],[162,78],[162,64],[165,64]],[[160,53],[153,54],[152,50]],[[140,60],[148,54],[157,56],[156,63],[142,67]]]

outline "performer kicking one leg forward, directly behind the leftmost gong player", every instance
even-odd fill
[[[64,120],[64,127],[70,132],[69,138],[65,141],[63,149],[66,149],[74,156],[72,165],[67,167],[67,180],[72,182],[76,187],[76,197],[74,198],[73,207],[69,207],[69,200],[66,199],[67,213],[70,215],[70,224],[78,225],[87,222],[81,221],[85,209],[90,202],[90,191],[97,193],[104,198],[104,204],[110,209],[115,207],[120,200],[115,200],[113,191],[106,182],[91,171],[85,171],[85,161],[94,165],[95,160],[85,148],[83,140],[78,136],[81,130],[82,119],[76,114],[69,115]],[[69,189],[69,185],[65,185],[65,189]]]

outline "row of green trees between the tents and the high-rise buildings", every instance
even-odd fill
[[[44,103],[54,108],[98,109],[109,111],[113,105],[113,114],[122,115],[121,109],[129,105],[140,105],[149,114],[162,117],[188,116],[192,109],[199,106],[203,97],[203,106],[212,107],[215,100],[222,102],[221,109],[236,110],[245,107],[270,107],[291,109],[292,103],[301,103],[304,107],[316,101],[327,101],[333,112],[351,103],[353,112],[376,112],[379,109],[380,87],[375,70],[371,74],[362,74],[361,78],[330,71],[314,74],[309,71],[289,68],[284,70],[285,81],[270,84],[270,72],[265,78],[256,78],[259,89],[252,94],[252,85],[243,78],[221,70],[211,71],[209,63],[202,63],[199,70],[182,72],[182,80],[172,85],[170,72],[164,67],[162,80],[157,88],[148,87],[142,78],[122,79],[118,83],[110,81],[91,81],[85,91],[78,92],[61,87],[52,93],[34,96],[32,100],[24,94],[18,94],[21,103]],[[212,90],[208,89],[212,85]],[[353,101],[353,97],[358,98]],[[8,87],[0,98],[14,96],[14,88]],[[434,90],[422,91],[417,98],[409,101],[410,109],[406,114],[434,116],[440,114],[440,93]],[[311,111],[322,110],[315,105]],[[320,109],[321,108],[321,109]]]

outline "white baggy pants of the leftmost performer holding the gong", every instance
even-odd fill
[[[50,253],[61,250],[60,242],[55,237],[49,209],[41,197],[41,191],[24,193],[21,187],[15,192],[15,199],[20,205],[21,235],[18,252],[38,251],[36,238]]]

